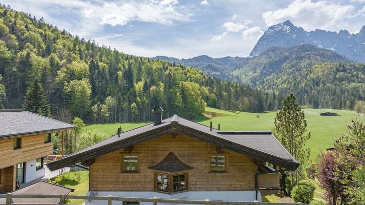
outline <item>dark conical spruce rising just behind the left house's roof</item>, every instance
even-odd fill
[[[51,116],[47,96],[42,85],[38,83],[38,79],[33,81],[33,84],[28,88],[24,96],[23,110],[43,116]]]

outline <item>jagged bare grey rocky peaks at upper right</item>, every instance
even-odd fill
[[[353,61],[365,62],[365,26],[356,34],[350,34],[347,30],[337,33],[316,29],[308,32],[294,26],[289,20],[269,27],[258,39],[250,56],[259,55],[274,46],[290,48],[301,44],[330,49]]]

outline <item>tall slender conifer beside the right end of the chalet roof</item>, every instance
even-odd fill
[[[302,165],[308,161],[310,155],[310,150],[305,146],[307,140],[311,138],[310,132],[305,134],[307,121],[293,93],[282,101],[280,111],[276,113],[274,124],[275,135],[280,143],[301,163],[295,172],[290,173],[293,187],[303,176]]]

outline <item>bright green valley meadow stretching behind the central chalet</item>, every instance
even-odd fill
[[[307,120],[307,130],[311,132],[311,139],[307,147],[311,150],[311,160],[315,160],[320,151],[333,147],[333,137],[347,132],[347,125],[351,119],[365,120],[364,116],[357,115],[354,111],[331,109],[303,109]],[[334,112],[338,116],[320,116],[322,112]],[[221,130],[273,130],[276,112],[248,113],[238,111],[225,111],[206,108],[204,116],[194,119],[200,124],[209,126],[212,121],[213,128]],[[213,117],[214,116],[214,117]],[[128,131],[150,122],[132,122],[123,124],[94,124],[85,127],[85,131],[98,130],[113,135],[120,126],[123,131]]]

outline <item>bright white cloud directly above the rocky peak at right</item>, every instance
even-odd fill
[[[334,28],[344,29],[348,26],[348,20],[356,15],[356,9],[352,5],[297,0],[287,8],[267,11],[262,14],[262,17],[268,26],[289,19],[294,25],[303,27],[305,30],[333,30]]]

